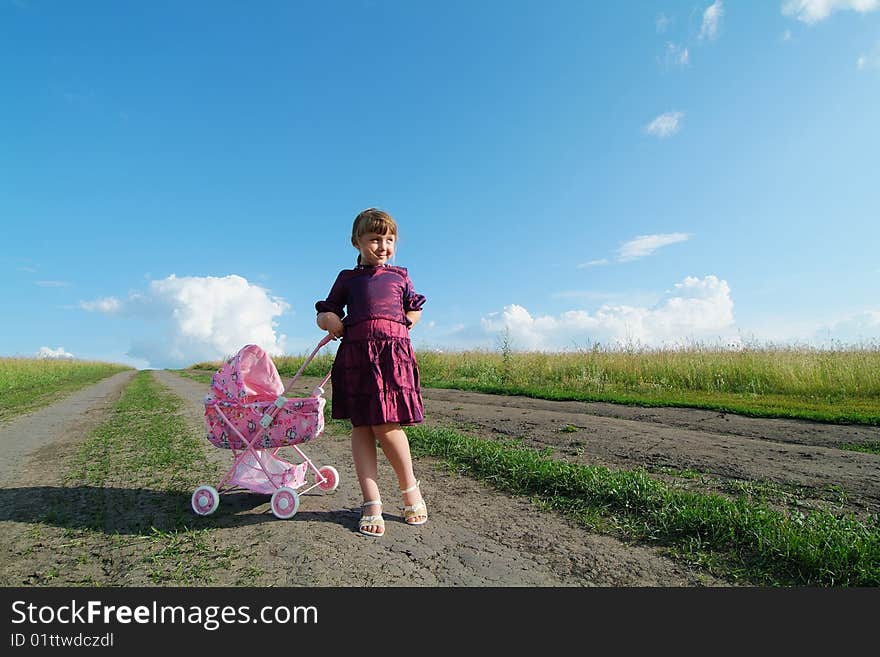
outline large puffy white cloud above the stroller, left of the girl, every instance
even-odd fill
[[[290,308],[284,300],[237,275],[182,277],[152,281],[145,293],[123,303],[113,297],[80,304],[87,310],[158,323],[155,337],[132,344],[129,356],[156,367],[184,367],[217,360],[257,344],[269,354],[284,353],[286,336],[276,335],[275,317]]]

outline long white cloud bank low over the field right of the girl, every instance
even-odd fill
[[[687,277],[652,307],[605,304],[595,313],[570,310],[533,317],[523,306],[511,304],[486,315],[480,324],[487,335],[509,330],[513,347],[524,350],[557,351],[593,342],[647,347],[739,343],[730,288],[715,276]]]

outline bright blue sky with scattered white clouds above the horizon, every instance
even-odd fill
[[[880,1],[0,0],[0,355],[880,340]],[[331,345],[332,348],[332,345]]]

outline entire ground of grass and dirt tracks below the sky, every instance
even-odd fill
[[[408,432],[431,520],[394,522],[386,468],[381,541],[356,532],[338,421],[307,450],[340,471],[336,494],[307,496],[288,522],[250,493],[195,517],[191,490],[229,462],[202,437],[217,364],[122,372],[82,402],[88,422],[67,418],[63,442],[37,428],[65,421],[57,403],[0,425],[0,439],[31,441],[22,467],[0,471],[0,581],[876,586],[878,360],[876,348],[419,353],[427,421]],[[277,359],[282,376],[301,362]]]

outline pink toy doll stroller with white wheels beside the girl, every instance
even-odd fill
[[[325,337],[285,388],[275,363],[257,345],[247,345],[214,374],[211,394],[205,398],[208,440],[216,447],[232,450],[232,467],[217,488],[199,486],[192,496],[192,508],[206,516],[217,510],[219,491],[244,488],[272,495],[270,507],[276,517],[291,518],[299,509],[300,495],[317,487],[331,492],[339,486],[333,466],[315,467],[299,445],[324,431],[324,380],[310,397],[288,399],[284,395],[315,354],[331,340]],[[282,447],[292,447],[302,461],[288,463],[278,456]],[[309,475],[312,475],[311,478]],[[309,480],[311,479],[311,485]]]

